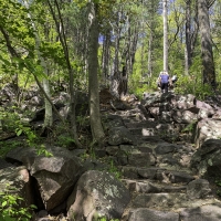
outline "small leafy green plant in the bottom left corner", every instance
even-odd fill
[[[0,220],[4,221],[30,221],[32,211],[36,209],[31,204],[28,208],[20,207],[23,198],[12,193],[13,188],[6,185],[3,192],[0,192]]]

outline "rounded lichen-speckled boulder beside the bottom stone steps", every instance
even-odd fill
[[[67,200],[71,220],[120,219],[130,200],[128,189],[107,171],[86,171]]]

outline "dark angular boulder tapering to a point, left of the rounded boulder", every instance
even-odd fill
[[[48,211],[56,208],[71,193],[76,183],[82,165],[71,151],[61,147],[45,149],[51,157],[39,156],[34,148],[20,147],[7,155],[10,161],[23,164],[30,170]]]

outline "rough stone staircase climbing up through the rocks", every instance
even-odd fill
[[[154,102],[148,105],[150,107],[155,104],[155,107],[162,109],[157,117],[148,117],[148,108],[140,108],[140,105],[139,108],[115,113],[116,130],[125,126],[130,134],[119,140],[133,144],[119,145],[119,151],[126,155],[119,154],[117,157],[122,181],[133,196],[122,221],[221,220],[221,201],[213,194],[211,183],[200,178],[191,165],[192,155],[197,151],[191,141],[193,134],[181,133],[180,129],[183,130],[196,116],[189,115],[187,119],[185,115],[180,115],[180,120],[165,120],[164,109],[168,114],[175,108],[165,108],[162,105],[168,103],[164,102],[169,97],[164,101],[161,96],[154,95]],[[185,101],[182,105],[187,108],[188,102]],[[124,133],[126,131],[118,129],[115,136],[124,136]]]

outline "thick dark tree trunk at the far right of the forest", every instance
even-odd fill
[[[198,18],[201,35],[201,61],[203,84],[215,87],[215,71],[212,52],[212,38],[210,32],[210,20],[207,0],[198,0]]]

